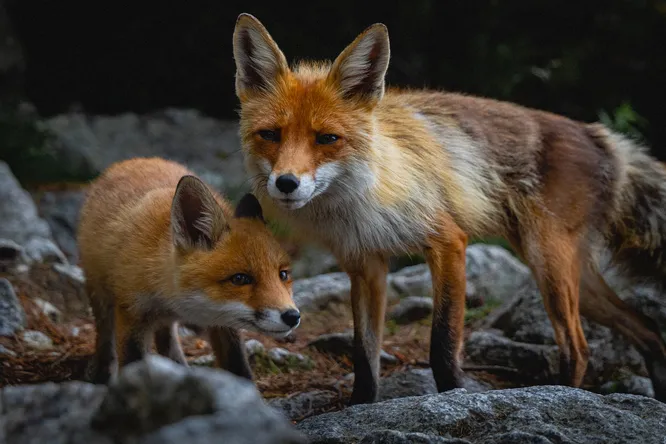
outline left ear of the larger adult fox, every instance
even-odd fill
[[[278,77],[289,71],[284,54],[254,16],[238,16],[233,43],[239,98],[251,91],[271,89]]]

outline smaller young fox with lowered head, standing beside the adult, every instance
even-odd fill
[[[136,158],[90,189],[79,226],[81,264],[95,316],[90,378],[157,351],[186,365],[176,321],[205,327],[217,364],[252,379],[237,329],[286,335],[300,323],[289,256],[247,194],[236,207],[185,167]]]

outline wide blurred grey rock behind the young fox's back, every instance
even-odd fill
[[[131,157],[159,156],[186,164],[232,199],[248,189],[237,122],[218,121],[196,110],[166,109],[145,115],[70,113],[45,125],[58,138],[62,162],[81,170],[79,175],[98,174]]]

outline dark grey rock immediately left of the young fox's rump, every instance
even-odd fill
[[[79,260],[76,232],[84,198],[84,191],[47,191],[37,203],[39,213],[49,224],[53,238],[72,264]]]

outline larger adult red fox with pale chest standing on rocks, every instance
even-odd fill
[[[586,371],[582,313],[633,341],[666,400],[659,329],[616,296],[599,263],[610,252],[628,275],[665,282],[666,171],[645,148],[601,124],[512,103],[386,88],[383,24],[332,63],[290,67],[265,27],[241,14],[233,50],[257,197],[330,249],[351,279],[352,404],[376,399],[387,258],[399,253],[425,253],[430,365],[439,391],[461,386],[470,236],[504,237],[529,264],[562,384],[580,386]]]

